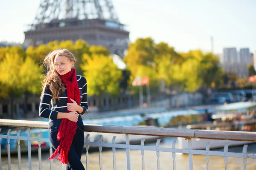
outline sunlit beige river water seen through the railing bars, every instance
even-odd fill
[[[160,147],[172,147],[172,140],[175,138],[164,138],[160,143]],[[155,144],[145,144],[155,146]],[[229,152],[242,152],[243,146],[229,147]],[[84,149],[85,150],[85,149]],[[222,149],[218,149],[220,151]],[[248,144],[247,153],[256,153],[256,143]],[[28,158],[27,154],[22,154],[21,164],[22,170],[28,170]],[[49,170],[49,152],[42,153],[42,169]],[[102,151],[102,162],[104,170],[113,170],[113,152],[112,150]],[[141,151],[130,150],[131,170],[141,170]],[[155,151],[145,151],[145,170],[157,170],[157,155]],[[188,170],[189,169],[189,156],[187,154],[176,153],[176,170]],[[86,167],[85,152],[81,157],[81,161]],[[160,152],[160,168],[161,170],[172,169],[172,153]],[[12,170],[18,170],[18,161],[16,154],[11,156]],[[211,170],[224,170],[225,162],[224,157],[210,156],[209,161]],[[193,167],[194,170],[206,170],[207,161],[206,156],[193,155]],[[116,149],[116,167],[117,170],[127,169],[126,163],[126,150]],[[228,158],[229,170],[241,170],[243,169],[243,159],[241,158]],[[99,170],[99,152],[90,152],[89,148],[89,168],[90,170]],[[38,170],[38,154],[32,153],[32,170]],[[61,170],[61,164],[57,160],[53,160],[53,169]],[[8,170],[7,156],[2,156],[2,170]],[[256,160],[247,159],[247,170],[256,170]]]

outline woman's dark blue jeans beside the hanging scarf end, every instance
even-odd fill
[[[57,140],[58,127],[51,127],[49,129],[49,139],[56,150],[60,141]],[[81,156],[84,148],[84,130],[83,125],[79,125],[76,129],[70,151],[68,153],[67,170],[84,170],[84,165],[81,162]]]

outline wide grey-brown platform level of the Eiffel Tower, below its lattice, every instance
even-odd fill
[[[25,31],[24,45],[37,46],[53,40],[86,40],[90,45],[102,45],[111,53],[122,54],[128,49],[129,32],[124,25],[101,19],[52,20],[44,28]]]

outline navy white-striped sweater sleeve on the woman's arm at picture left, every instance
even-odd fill
[[[49,84],[47,84],[42,92],[42,98],[39,105],[39,116],[49,119],[57,119],[58,111],[50,110],[50,102],[52,99],[52,92],[49,89]]]

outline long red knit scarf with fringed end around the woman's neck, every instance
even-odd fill
[[[67,87],[67,102],[73,103],[71,99],[74,99],[77,104],[80,103],[80,91],[76,79],[76,70],[74,68],[71,69],[70,72],[64,75],[58,74],[61,78],[62,82]],[[70,99],[71,98],[71,99]],[[69,113],[70,111],[66,111]],[[49,159],[56,158],[61,161],[62,164],[67,164],[67,154],[70,150],[70,146],[73,141],[73,137],[76,134],[76,122],[72,122],[69,119],[62,119],[61,125],[58,129],[57,140],[61,140],[60,145],[57,147],[55,152]],[[59,156],[58,156],[59,154]],[[58,157],[58,158],[57,158]]]

